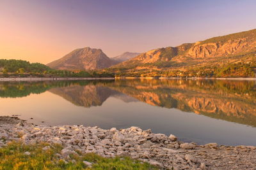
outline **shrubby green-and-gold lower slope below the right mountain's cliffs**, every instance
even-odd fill
[[[219,57],[206,61],[186,59],[183,62],[157,61],[140,65],[106,69],[116,77],[255,77],[256,52],[240,53],[232,57]]]

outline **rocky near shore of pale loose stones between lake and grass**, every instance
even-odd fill
[[[170,134],[154,134],[139,127],[109,130],[83,125],[28,124],[15,117],[0,117],[0,147],[10,141],[47,142],[63,146],[60,159],[94,152],[103,157],[129,156],[163,169],[255,169],[256,146],[219,146],[182,143]],[[47,150],[47,147],[45,147]]]

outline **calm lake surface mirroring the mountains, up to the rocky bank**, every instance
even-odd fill
[[[0,108],[35,124],[138,126],[200,144],[256,145],[255,81],[0,82]]]

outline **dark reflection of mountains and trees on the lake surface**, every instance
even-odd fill
[[[141,101],[256,126],[255,81],[142,79],[0,83],[0,97],[25,97],[47,90],[86,108],[101,106],[108,97],[115,97],[125,103]]]

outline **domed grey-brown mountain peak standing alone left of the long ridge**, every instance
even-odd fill
[[[102,50],[85,47],[76,49],[61,59],[50,62],[47,66],[52,69],[93,70],[110,67],[116,63],[109,59]]]

